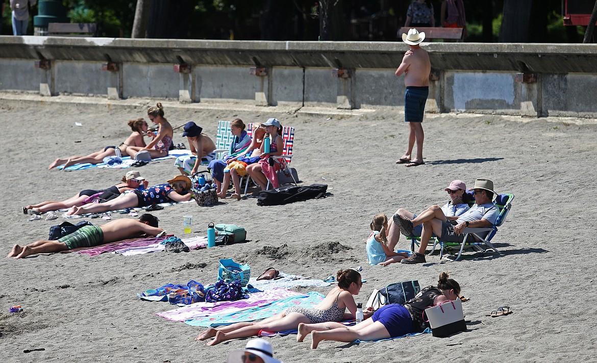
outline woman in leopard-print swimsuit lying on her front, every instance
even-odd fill
[[[341,269],[337,274],[338,286],[334,287],[319,305],[313,309],[293,306],[282,314],[274,315],[259,322],[237,322],[219,328],[208,328],[195,340],[215,337],[207,345],[216,345],[225,340],[256,336],[260,330],[284,331],[296,329],[298,324],[321,323],[325,321],[343,321],[355,318],[356,303],[353,295],[361,291],[361,274],[352,269]],[[348,309],[349,313],[345,313]],[[370,314],[367,315],[367,317]]]

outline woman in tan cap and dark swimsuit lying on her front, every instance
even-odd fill
[[[118,194],[127,190],[136,190],[147,188],[147,179],[143,178],[137,170],[131,170],[122,177],[122,182],[112,187],[103,190],[85,189],[75,194],[74,196],[63,201],[42,201],[38,204],[23,207],[25,214],[39,214],[50,212],[51,210],[66,209],[73,206],[82,206],[83,204],[91,202],[93,196],[100,199],[113,199]]]

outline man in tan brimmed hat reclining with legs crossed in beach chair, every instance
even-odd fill
[[[398,213],[393,216],[393,221],[400,227],[404,235],[411,235],[413,226],[422,224],[421,244],[418,252],[402,260],[402,263],[424,263],[425,249],[433,233],[440,242],[462,242],[464,228],[484,228],[496,223],[500,211],[492,203],[494,194],[493,181],[487,178],[478,178],[472,187],[475,192],[475,205],[460,216],[447,217],[438,206],[432,206],[423,211],[412,221],[403,218]],[[485,237],[485,236],[482,236]]]

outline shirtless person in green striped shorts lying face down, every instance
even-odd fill
[[[158,228],[158,218],[145,213],[141,215],[138,221],[137,219],[124,218],[107,222],[100,227],[85,226],[59,238],[57,241],[36,241],[23,247],[15,244],[7,257],[20,259],[36,253],[54,253],[79,247],[93,247],[104,243],[140,237],[141,235],[155,236],[163,231],[162,228]]]

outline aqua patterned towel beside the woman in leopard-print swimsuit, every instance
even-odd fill
[[[193,327],[219,327],[220,325],[230,325],[235,322],[254,321],[280,314],[291,306],[300,305],[306,309],[314,308],[324,298],[325,296],[320,293],[310,292],[305,295],[290,296],[274,302],[263,303],[240,311],[210,314],[208,317],[189,319],[184,323]]]

